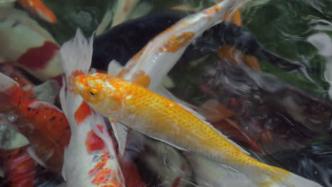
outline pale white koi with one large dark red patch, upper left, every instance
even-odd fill
[[[59,46],[47,30],[26,12],[6,7],[0,12],[0,63],[11,62],[42,80],[63,73]]]

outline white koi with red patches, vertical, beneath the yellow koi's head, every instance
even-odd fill
[[[125,186],[104,118],[74,92],[74,78],[87,74],[92,61],[92,38],[88,41],[77,30],[75,38],[62,45],[60,54],[67,82],[60,100],[72,131],[62,169],[66,186]]]

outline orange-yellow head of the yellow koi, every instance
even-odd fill
[[[109,115],[120,111],[123,104],[123,80],[109,74],[89,74],[75,78],[75,91],[95,111]]]

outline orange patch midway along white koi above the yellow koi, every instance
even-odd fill
[[[170,38],[168,38],[167,42],[162,47],[160,47],[160,51],[177,52],[190,40],[192,40],[194,35],[194,32],[184,32],[180,35],[172,35]]]

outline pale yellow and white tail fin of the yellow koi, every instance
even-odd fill
[[[302,176],[265,164],[246,173],[260,187],[322,187],[319,183]]]

